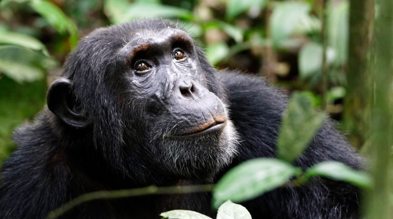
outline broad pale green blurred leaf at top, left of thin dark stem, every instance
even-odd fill
[[[303,2],[283,2],[277,4],[270,17],[270,32],[273,46],[279,47],[299,24],[301,19],[308,16],[310,5]]]

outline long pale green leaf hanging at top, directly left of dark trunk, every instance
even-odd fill
[[[345,64],[348,58],[349,3],[330,4],[327,17],[327,35],[336,55],[336,65]]]

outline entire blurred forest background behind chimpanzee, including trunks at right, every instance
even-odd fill
[[[144,17],[181,24],[217,69],[306,93],[374,159],[370,209],[391,218],[391,0],[2,0],[0,164],[15,150],[13,130],[43,108],[77,41],[97,27]]]

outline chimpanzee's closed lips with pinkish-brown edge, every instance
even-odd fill
[[[186,130],[178,136],[182,137],[194,137],[199,135],[205,135],[212,132],[222,130],[227,125],[227,119],[225,117],[218,117],[212,119],[210,122],[201,124],[193,129]]]

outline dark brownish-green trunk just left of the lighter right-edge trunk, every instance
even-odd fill
[[[370,47],[372,44],[375,0],[351,0],[349,19],[349,54],[347,95],[344,100],[344,129],[351,133],[350,141],[360,147],[368,130]]]

